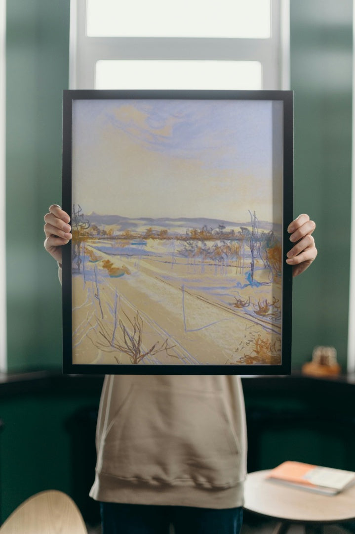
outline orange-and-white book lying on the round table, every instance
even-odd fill
[[[267,478],[272,482],[324,495],[335,495],[355,484],[355,473],[352,471],[295,461],[283,462],[272,469]]]

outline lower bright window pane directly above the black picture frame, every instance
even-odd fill
[[[101,60],[95,89],[262,89],[259,61]]]

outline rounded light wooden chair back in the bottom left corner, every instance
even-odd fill
[[[66,493],[49,490],[16,508],[0,534],[87,534],[87,530],[75,502]]]

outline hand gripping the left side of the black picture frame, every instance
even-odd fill
[[[62,246],[71,239],[69,215],[58,204],[50,206],[49,213],[44,216],[44,248],[59,264],[62,262]]]

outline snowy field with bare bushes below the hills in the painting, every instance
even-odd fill
[[[251,232],[87,232],[73,270],[74,363],[279,364],[279,241],[259,229],[252,274]]]

